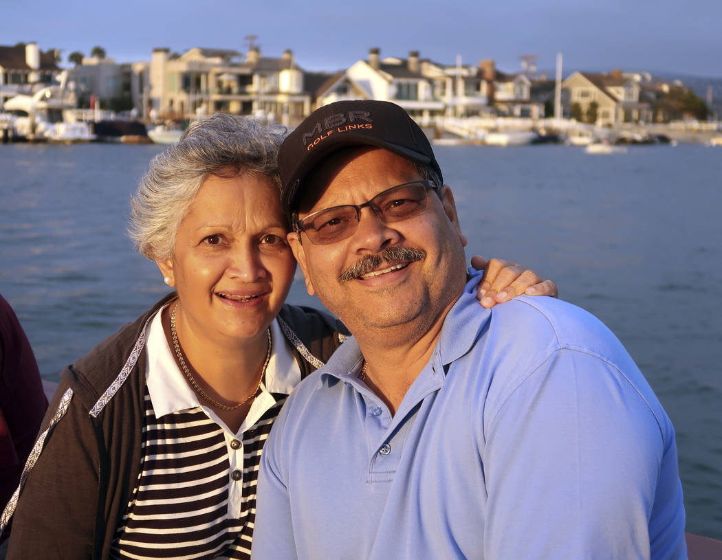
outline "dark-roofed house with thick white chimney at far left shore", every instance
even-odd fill
[[[40,51],[35,42],[0,46],[0,108],[10,97],[32,95],[55,82],[61,73],[59,55],[57,50]]]

